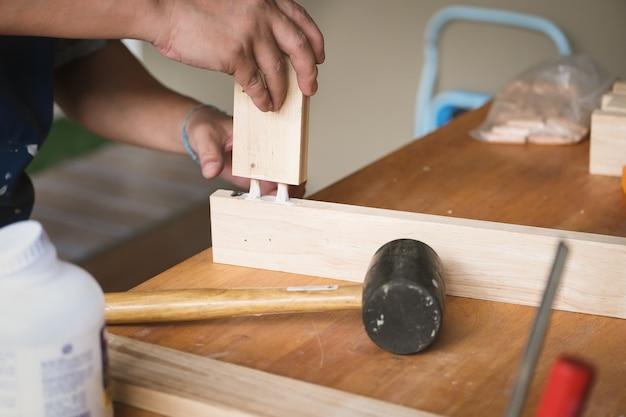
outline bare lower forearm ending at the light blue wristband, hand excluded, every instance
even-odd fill
[[[162,86],[119,42],[58,69],[55,99],[99,135],[179,153],[181,123],[197,103]]]

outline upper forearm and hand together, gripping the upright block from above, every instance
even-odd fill
[[[324,61],[322,33],[293,0],[3,0],[0,35],[145,40],[176,61],[233,75],[262,111],[282,105],[286,65],[310,96]]]

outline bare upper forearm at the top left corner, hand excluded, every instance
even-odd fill
[[[154,41],[159,0],[8,0],[0,2],[0,34]]]

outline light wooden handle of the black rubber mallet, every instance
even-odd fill
[[[108,324],[206,320],[361,308],[360,285],[105,294]]]

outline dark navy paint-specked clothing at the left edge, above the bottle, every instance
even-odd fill
[[[33,207],[24,170],[52,123],[54,48],[51,38],[0,36],[0,226]]]

